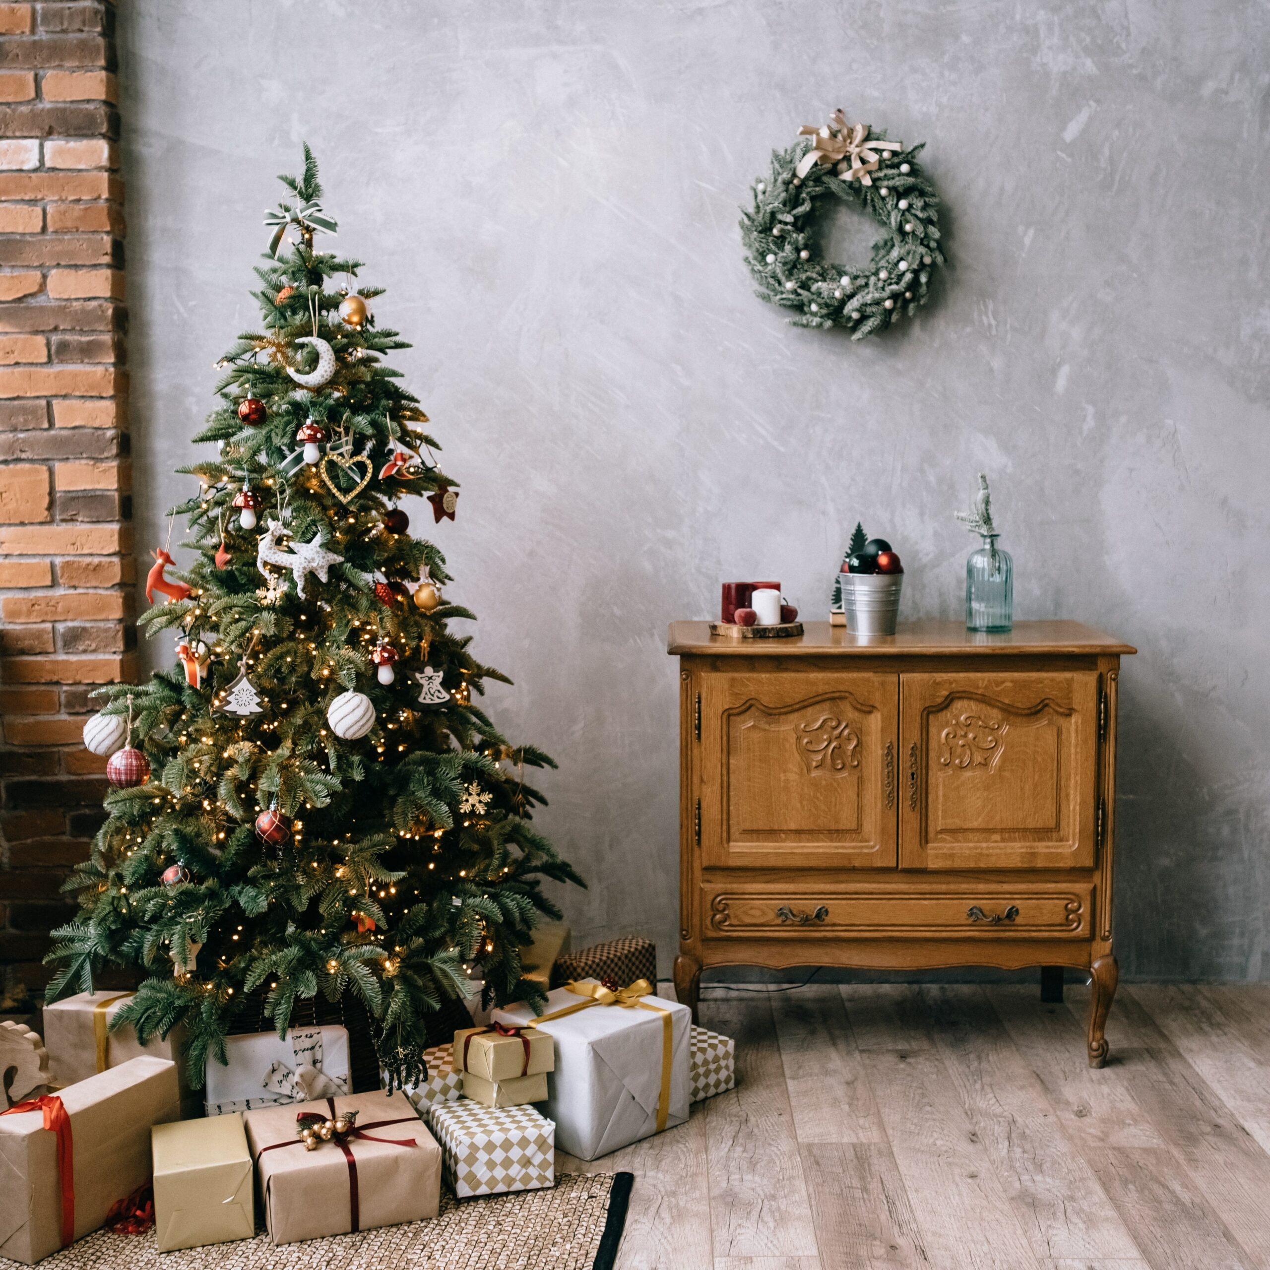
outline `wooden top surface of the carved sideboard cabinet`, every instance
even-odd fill
[[[804,622],[803,627],[804,634],[792,639],[737,639],[711,635],[709,622],[671,622],[667,652],[672,657],[693,653],[711,657],[894,657],[897,653],[1097,657],[1138,652],[1114,635],[1064,620],[1015,622],[1015,629],[1003,635],[968,631],[964,622],[935,620],[900,622],[894,635],[851,635],[845,626],[829,622]]]

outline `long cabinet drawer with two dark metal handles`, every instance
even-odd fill
[[[1092,935],[1093,886],[961,886],[939,893],[876,888],[705,888],[707,937],[1072,939]]]

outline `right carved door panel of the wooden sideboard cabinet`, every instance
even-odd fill
[[[903,869],[1090,869],[1097,673],[900,677]]]

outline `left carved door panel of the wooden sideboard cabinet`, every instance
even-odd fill
[[[701,707],[704,865],[895,866],[898,676],[707,674]]]

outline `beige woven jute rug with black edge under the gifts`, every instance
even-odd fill
[[[432,1222],[274,1246],[268,1234],[160,1252],[154,1231],[97,1231],[41,1270],[612,1270],[630,1173],[566,1173],[551,1190],[456,1200]],[[25,1270],[0,1257],[0,1270]]]

